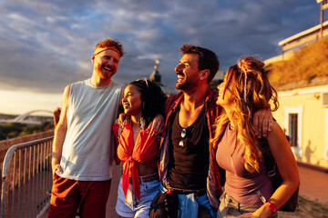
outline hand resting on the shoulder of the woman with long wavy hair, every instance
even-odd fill
[[[255,112],[252,123],[258,138],[266,137],[273,128],[272,112],[270,109],[262,109]]]

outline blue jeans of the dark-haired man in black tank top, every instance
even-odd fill
[[[165,193],[168,191],[162,183],[159,185],[159,191]],[[216,217],[216,213],[211,209],[210,200],[207,194],[197,196],[195,193],[179,194],[179,218],[197,218],[199,206],[205,207],[210,211],[212,217]]]

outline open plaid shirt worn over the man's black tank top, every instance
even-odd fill
[[[166,122],[164,126],[163,135],[160,142],[159,148],[159,177],[160,181],[169,187],[169,181],[167,178],[168,167],[169,167],[169,128],[173,122],[173,114],[179,109],[179,104],[183,101],[184,94],[169,96],[165,105]],[[220,114],[222,110],[220,106],[216,104],[218,99],[218,92],[213,89],[207,88],[206,99],[205,99],[205,110],[207,116],[207,124],[210,130],[210,139],[214,136],[215,131],[215,118]],[[209,175],[207,178],[207,195],[210,200],[212,208],[217,211],[219,208],[219,198],[222,193],[222,185],[225,182],[225,172],[221,169],[216,162],[216,150],[209,144],[210,149],[210,166]]]

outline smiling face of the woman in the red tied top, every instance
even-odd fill
[[[124,113],[131,116],[141,116],[141,94],[138,88],[134,84],[128,84],[124,90],[124,97],[122,99],[122,105]]]

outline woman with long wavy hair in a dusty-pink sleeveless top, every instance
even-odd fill
[[[300,184],[291,146],[276,122],[266,138],[283,179],[274,193],[267,175],[252,117],[260,109],[275,111],[279,104],[263,66],[254,57],[244,57],[230,67],[218,86],[217,104],[224,110],[216,120],[211,145],[217,163],[226,170],[218,217],[277,217],[275,211]]]

